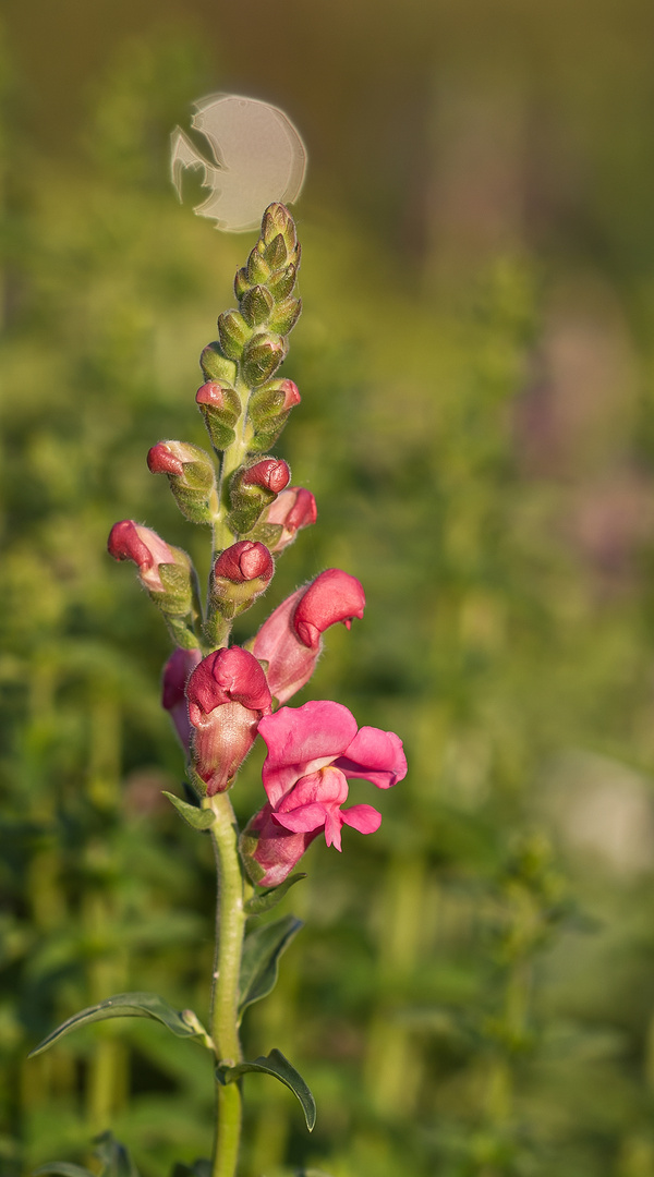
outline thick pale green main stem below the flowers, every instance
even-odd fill
[[[238,826],[227,793],[207,797],[216,816],[211,827],[218,871],[215,962],[211,1035],[219,1063],[242,1060],[239,1040],[239,977],[245,935],[243,879],[238,852]],[[241,1092],[236,1083],[216,1080],[212,1177],[235,1177],[241,1135]]]

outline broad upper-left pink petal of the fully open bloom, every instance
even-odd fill
[[[268,747],[263,787],[276,806],[300,777],[325,767],[348,749],[356,720],[340,703],[312,701],[266,716],[259,731]]]

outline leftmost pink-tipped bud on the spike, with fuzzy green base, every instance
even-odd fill
[[[151,527],[122,519],[112,527],[107,544],[115,560],[133,560],[139,578],[164,613],[178,645],[193,649],[196,612],[196,577],[191,558],[181,547],[167,544]]]

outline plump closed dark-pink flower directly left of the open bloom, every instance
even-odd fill
[[[229,787],[271,712],[261,666],[240,646],[214,650],[195,667],[186,687],[191,724],[192,783],[213,797]]]

